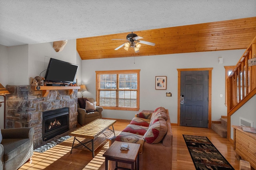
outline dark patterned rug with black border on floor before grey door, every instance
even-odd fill
[[[183,135],[196,170],[234,170],[207,137]]]

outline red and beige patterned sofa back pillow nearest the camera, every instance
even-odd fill
[[[144,134],[143,138],[146,143],[159,143],[164,138],[167,132],[167,123],[166,121],[159,117],[148,127],[148,131]]]

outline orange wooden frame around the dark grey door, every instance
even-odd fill
[[[180,126],[180,72],[182,71],[208,71],[208,128],[212,129],[212,69],[213,68],[181,68],[178,70],[178,126]]]

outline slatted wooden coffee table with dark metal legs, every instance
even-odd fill
[[[75,131],[69,133],[70,136],[74,136],[74,141],[72,144],[72,150],[77,149],[87,149],[92,152],[92,157],[94,157],[94,150],[96,150],[112,133],[115,135],[114,123],[116,120],[110,119],[96,119]],[[112,130],[109,127],[112,126]],[[77,137],[85,138],[83,141],[79,141]],[[75,140],[78,144],[74,146]]]

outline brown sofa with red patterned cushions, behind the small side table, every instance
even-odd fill
[[[135,116],[111,142],[140,143],[140,170],[171,170],[172,128],[168,109],[158,107],[155,111],[140,112]],[[118,166],[130,168],[130,164],[120,162]],[[115,162],[110,161],[110,170],[114,168]]]

